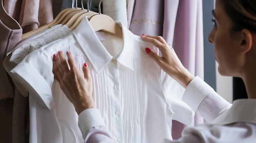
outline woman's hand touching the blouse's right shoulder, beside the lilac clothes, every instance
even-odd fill
[[[174,49],[166,43],[161,36],[141,35],[142,40],[152,43],[159,48],[162,57],[158,56],[153,50],[146,48],[146,53],[153,58],[161,69],[173,79],[186,88],[189,82],[195,77],[180,62]]]

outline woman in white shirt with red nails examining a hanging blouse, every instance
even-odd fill
[[[218,71],[223,76],[242,78],[249,99],[228,104],[209,85],[188,72],[162,37],[141,35],[141,39],[162,52],[162,57],[159,57],[149,48],[145,49],[169,76],[186,89],[184,101],[210,121],[209,124],[187,127],[180,139],[166,142],[256,143],[256,1],[216,0],[213,16],[215,25],[208,40],[215,45],[213,51],[219,63]],[[99,112],[94,108],[87,65],[83,66],[83,78],[72,55],[67,52],[67,56],[70,69],[62,52],[54,55],[53,73],[79,114],[85,142],[114,142],[104,125],[94,124]]]

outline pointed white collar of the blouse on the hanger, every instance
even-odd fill
[[[134,35],[121,22],[116,23],[122,28],[124,42],[121,52],[115,58],[117,58],[119,64],[133,70]],[[82,46],[95,71],[99,74],[113,57],[98,39],[87,17],[83,18],[73,31],[73,34]]]

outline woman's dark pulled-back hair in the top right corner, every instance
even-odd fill
[[[256,33],[256,0],[220,0],[230,17],[233,27],[231,31],[244,28]]]

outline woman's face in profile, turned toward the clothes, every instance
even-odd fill
[[[220,0],[216,0],[213,10],[215,25],[208,36],[213,43],[218,71],[222,76],[238,76],[239,68],[239,38],[231,35],[231,20],[225,13]]]

